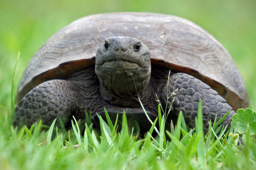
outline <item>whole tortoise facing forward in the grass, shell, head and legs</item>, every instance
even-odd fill
[[[72,116],[85,122],[87,110],[97,127],[96,113],[104,117],[106,108],[112,120],[125,111],[129,124],[147,131],[138,98],[151,119],[160,102],[171,108],[168,121],[182,111],[190,128],[201,99],[205,130],[230,110],[222,122],[229,125],[249,104],[232,57],[198,25],[171,15],[105,13],[74,21],[35,53],[20,80],[13,124],[57,118],[69,128]]]

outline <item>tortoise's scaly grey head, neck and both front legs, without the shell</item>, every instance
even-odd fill
[[[150,63],[145,44],[132,37],[110,37],[97,50],[95,68],[72,74],[66,80],[49,80],[32,89],[19,102],[13,124],[19,128],[42,120],[50,125],[55,118],[70,127],[70,119],[85,122],[85,110],[92,112],[94,126],[99,126],[96,112],[104,117],[104,108],[115,121],[117,113],[127,114],[129,126],[137,121],[141,132],[151,124],[141,109],[138,97],[151,120],[158,116],[158,102],[171,107],[167,121],[174,123],[180,111],[186,124],[195,128],[198,102],[202,100],[204,131],[209,121],[217,121],[229,112],[222,125],[230,125],[234,111],[218,93],[201,80],[185,73],[170,73]],[[177,90],[177,91],[175,91]],[[167,92],[170,95],[168,98]],[[173,103],[172,103],[173,101]]]

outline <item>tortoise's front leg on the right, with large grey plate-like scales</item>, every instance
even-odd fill
[[[206,133],[209,128],[209,121],[214,122],[217,115],[219,121],[229,110],[229,114],[221,125],[229,125],[232,121],[232,116],[235,114],[232,107],[226,103],[226,100],[221,97],[215,90],[210,88],[201,80],[185,73],[176,73],[169,80],[169,95],[175,92],[175,100],[172,104],[170,117],[174,119],[178,117],[182,111],[185,122],[190,128],[195,128],[195,117],[197,116],[199,99],[202,100],[203,113],[203,128]],[[164,89],[162,99],[166,102],[167,85]],[[168,106],[171,106],[172,99],[168,100]]]

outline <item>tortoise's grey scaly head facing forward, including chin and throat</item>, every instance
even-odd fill
[[[148,84],[150,52],[133,37],[110,37],[96,53],[95,73],[105,100],[133,98]]]

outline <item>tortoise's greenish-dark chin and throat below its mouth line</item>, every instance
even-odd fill
[[[100,81],[101,95],[105,100],[133,100],[148,85],[151,67],[130,70],[96,67],[95,73]]]

